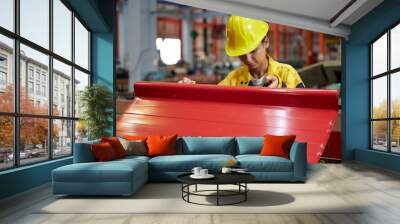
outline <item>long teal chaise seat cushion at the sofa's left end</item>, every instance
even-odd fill
[[[58,182],[129,182],[134,172],[145,166],[146,162],[139,159],[74,163],[53,170],[52,174],[53,181]],[[147,176],[147,172],[143,175]]]

